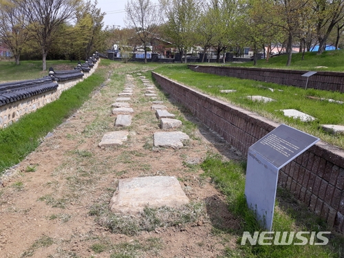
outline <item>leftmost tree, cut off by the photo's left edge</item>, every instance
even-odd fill
[[[16,65],[30,34],[25,28],[28,22],[16,3],[11,0],[0,2],[0,40],[11,50]]]

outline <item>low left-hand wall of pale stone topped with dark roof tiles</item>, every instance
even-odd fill
[[[97,60],[96,56],[89,58],[74,70],[50,69],[49,76],[36,80],[0,84],[0,129],[58,99],[63,91],[93,74],[98,67]]]

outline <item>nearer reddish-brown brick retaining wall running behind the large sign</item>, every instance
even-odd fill
[[[247,155],[248,147],[279,124],[152,73],[172,98]],[[288,189],[330,226],[344,233],[344,151],[318,142],[279,171]]]

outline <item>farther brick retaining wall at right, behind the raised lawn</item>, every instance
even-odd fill
[[[196,68],[197,67],[197,68]],[[287,69],[265,69],[253,67],[224,67],[189,65],[195,72],[217,74],[236,78],[259,80],[268,83],[278,83],[305,88],[307,78],[301,76],[308,71]],[[308,79],[308,88],[323,89],[333,92],[344,92],[344,73],[342,72],[317,72]]]

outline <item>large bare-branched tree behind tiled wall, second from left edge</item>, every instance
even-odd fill
[[[25,15],[34,40],[41,48],[43,71],[47,69],[46,58],[52,43],[58,38],[61,24],[75,17],[81,0],[16,0]]]

